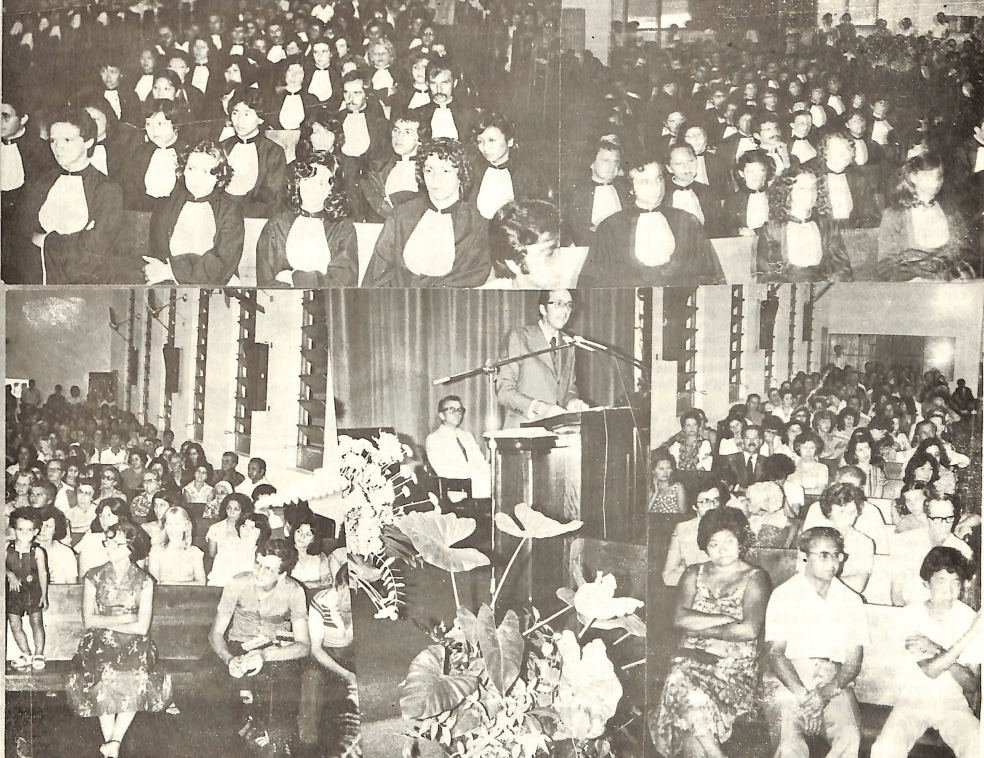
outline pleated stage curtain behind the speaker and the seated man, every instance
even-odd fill
[[[437,403],[458,395],[468,409],[463,428],[478,439],[501,423],[485,376],[434,387],[435,378],[499,356],[505,333],[536,321],[537,292],[481,290],[327,290],[338,427],[392,427],[423,449],[437,426]],[[634,290],[580,290],[567,330],[632,355]],[[574,349],[574,348],[571,348]],[[579,351],[581,397],[593,405],[622,402],[632,392],[631,366]]]

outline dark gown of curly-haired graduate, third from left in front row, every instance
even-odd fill
[[[324,289],[325,287],[355,287],[359,282],[359,241],[355,224],[349,219],[330,221],[319,219],[331,251],[328,271],[300,271],[287,260],[287,236],[300,212],[290,208],[267,221],[256,243],[256,283],[260,287],[285,287],[277,279],[281,271],[291,271],[295,287]]]

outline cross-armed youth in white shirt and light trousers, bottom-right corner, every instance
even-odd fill
[[[980,662],[969,662],[979,644],[980,613],[960,601],[972,574],[957,550],[934,547],[919,578],[929,598],[912,603],[893,625],[898,666],[895,705],[871,747],[872,758],[905,758],[927,729],[936,729],[957,755],[980,754],[980,720],[968,707],[980,688]],[[972,657],[973,660],[973,657]]]

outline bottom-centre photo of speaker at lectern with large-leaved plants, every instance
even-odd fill
[[[365,754],[640,755],[651,293],[327,297]]]

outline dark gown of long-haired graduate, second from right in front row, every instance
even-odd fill
[[[816,282],[823,280],[850,282],[854,280],[851,259],[841,238],[837,222],[814,217],[820,230],[820,264],[796,266],[789,262],[786,227],[769,221],[759,229],[755,256],[755,272],[760,282]],[[796,223],[796,222],[792,222]]]

